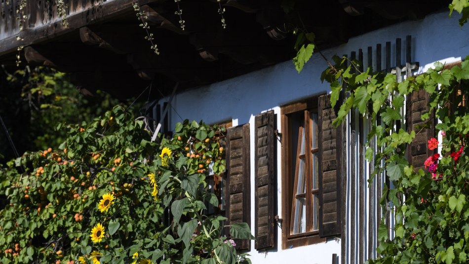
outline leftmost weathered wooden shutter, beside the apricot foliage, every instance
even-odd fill
[[[249,124],[228,128],[226,145],[228,224],[245,222],[251,226]],[[237,250],[251,248],[249,239],[235,239],[235,243]]]

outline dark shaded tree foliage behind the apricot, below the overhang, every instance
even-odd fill
[[[3,75],[4,74],[4,75]],[[118,103],[107,93],[84,96],[70,83],[69,76],[44,67],[0,73],[0,113],[20,154],[26,150],[57,148],[66,138],[58,123],[91,122]],[[0,153],[14,157],[4,132]]]

